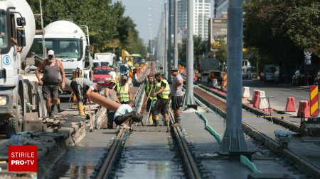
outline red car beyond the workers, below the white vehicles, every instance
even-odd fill
[[[109,82],[111,80],[111,71],[112,69],[110,67],[98,67],[93,69],[94,82],[99,86],[109,86]]]

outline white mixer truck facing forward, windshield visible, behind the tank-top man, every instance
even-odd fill
[[[82,28],[85,28],[86,34]],[[65,77],[71,79],[73,71],[79,69],[80,76],[92,79],[89,30],[85,25],[76,25],[70,21],[55,21],[44,28],[46,50],[53,50],[55,58],[63,63]],[[43,54],[42,35],[36,35],[32,49],[38,56]]]

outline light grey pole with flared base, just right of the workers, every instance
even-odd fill
[[[193,98],[193,0],[188,0],[187,91],[184,105],[196,104]]]

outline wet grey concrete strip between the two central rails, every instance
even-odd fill
[[[168,132],[133,132],[115,168],[114,178],[186,178]]]

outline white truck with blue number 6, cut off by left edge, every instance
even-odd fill
[[[36,75],[21,69],[36,32],[30,6],[26,0],[1,1],[0,21],[0,132],[9,137],[42,127],[38,117],[46,116],[46,108]]]

